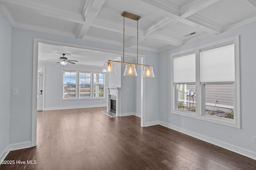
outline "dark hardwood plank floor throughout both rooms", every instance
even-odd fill
[[[106,107],[39,111],[37,146],[11,151],[0,170],[256,170],[256,160]],[[27,161],[36,164],[27,164]]]

